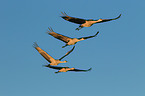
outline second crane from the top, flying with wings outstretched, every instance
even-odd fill
[[[62,46],[62,48],[66,47],[66,46],[68,46],[68,45],[74,45],[74,44],[76,44],[77,42],[82,41],[82,40],[86,40],[86,39],[89,39],[89,38],[93,38],[93,37],[97,36],[97,34],[99,33],[99,31],[98,31],[98,32],[97,32],[95,35],[93,35],[93,36],[81,37],[81,38],[70,38],[70,37],[67,37],[67,36],[64,36],[64,35],[61,35],[61,34],[58,34],[58,33],[54,32],[52,28],[49,28],[49,27],[48,27],[48,29],[49,29],[49,31],[48,31],[47,33],[48,33],[49,35],[51,35],[51,36],[53,36],[54,38],[59,39],[59,40],[61,40],[61,41],[63,41],[63,42],[66,43],[65,46]]]

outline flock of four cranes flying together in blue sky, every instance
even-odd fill
[[[69,22],[72,22],[72,23],[76,23],[76,24],[80,24],[80,26],[78,28],[76,28],[76,30],[80,30],[81,28],[83,27],[90,27],[92,26],[93,24],[96,24],[96,23],[103,23],[103,22],[107,22],[107,21],[112,21],[112,20],[116,20],[118,18],[120,18],[121,14],[116,17],[116,18],[113,18],[113,19],[98,19],[98,20],[93,20],[93,19],[80,19],[80,18],[75,18],[75,17],[70,17],[68,16],[65,12],[61,12],[62,13],[62,18],[69,21]],[[86,39],[89,39],[89,38],[93,38],[93,37],[96,37],[99,33],[99,31],[95,34],[95,35],[92,35],[92,36],[87,36],[87,37],[81,37],[81,38],[70,38],[68,36],[64,36],[64,35],[61,35],[59,33],[56,33],[53,31],[53,29],[51,27],[48,27],[48,34],[53,36],[54,38],[56,39],[59,39],[61,41],[63,41],[65,43],[64,46],[62,46],[62,48],[66,47],[66,46],[69,46],[69,45],[74,45],[73,48],[68,51],[64,56],[62,56],[60,59],[54,59],[53,57],[51,57],[47,52],[45,52],[44,50],[42,50],[38,44],[36,42],[34,42],[33,44],[33,47],[49,62],[48,65],[44,65],[44,67],[48,67],[48,68],[51,68],[51,69],[56,69],[58,70],[57,72],[55,73],[60,73],[60,72],[67,72],[67,71],[74,71],[74,72],[87,72],[87,71],[90,71],[92,68],[89,68],[87,70],[83,70],[83,69],[76,69],[76,68],[70,68],[70,67],[58,67],[57,65],[60,64],[60,63],[67,63],[67,61],[61,61],[64,57],[68,56],[75,48],[75,44],[79,41],[82,41],[82,40],[86,40]]]

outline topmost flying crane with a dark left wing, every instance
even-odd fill
[[[103,22],[107,22],[107,21],[112,21],[112,20],[116,20],[118,18],[120,18],[121,14],[113,19],[98,19],[98,20],[93,20],[93,19],[80,19],[80,18],[75,18],[75,17],[70,17],[68,16],[65,12],[61,12],[62,13],[62,18],[69,21],[69,22],[73,22],[76,24],[80,24],[80,26],[78,28],[76,28],[76,30],[80,30],[83,27],[90,27],[93,24],[96,23],[103,23]]]

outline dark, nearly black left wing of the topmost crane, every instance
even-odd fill
[[[77,24],[83,24],[86,22],[85,19],[80,19],[80,18],[75,18],[75,17],[70,17],[68,16],[65,12],[61,12],[63,16],[61,16],[63,19],[69,21],[69,22],[73,22],[73,23],[77,23]]]

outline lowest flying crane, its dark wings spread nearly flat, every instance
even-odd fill
[[[74,72],[87,72],[90,71],[92,68],[89,68],[87,70],[82,70],[82,69],[75,69],[75,68],[70,68],[70,67],[56,67],[56,66],[51,66],[51,65],[44,65],[45,67],[49,67],[52,69],[59,70],[55,73],[60,73],[60,72],[67,72],[67,71],[74,71]]]

